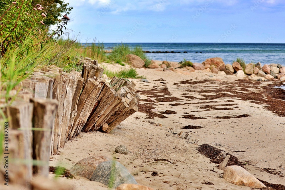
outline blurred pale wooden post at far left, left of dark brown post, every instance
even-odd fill
[[[11,106],[7,107],[7,116],[9,119],[9,126],[11,129],[18,129],[21,131],[22,136],[19,149],[17,150],[19,155],[17,157],[12,157],[13,159],[23,159],[21,167],[24,167],[23,178],[29,181],[32,177],[32,114],[33,114],[33,104],[25,102],[14,102]],[[18,136],[18,134],[15,134]],[[13,139],[9,136],[9,139]],[[14,139],[13,139],[14,140]],[[10,145],[11,147],[11,145]],[[10,155],[11,156],[11,155]]]

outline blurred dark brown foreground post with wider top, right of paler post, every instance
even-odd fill
[[[50,142],[52,126],[55,119],[58,101],[50,99],[31,99],[33,111],[33,159],[36,160],[34,173],[48,176],[50,160]]]

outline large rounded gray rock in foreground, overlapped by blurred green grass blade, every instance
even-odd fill
[[[117,161],[107,161],[99,164],[90,180],[103,183],[110,188],[116,188],[123,183],[137,184],[127,168]]]

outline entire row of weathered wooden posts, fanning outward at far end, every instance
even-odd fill
[[[65,73],[56,66],[39,67],[21,82],[17,97],[22,101],[3,111],[12,131],[13,156],[25,160],[19,171],[26,176],[24,181],[33,173],[48,176],[50,155],[58,154],[59,147],[81,131],[109,133],[138,111],[135,83],[117,77],[107,83],[103,71],[97,60],[85,59],[82,74]]]

